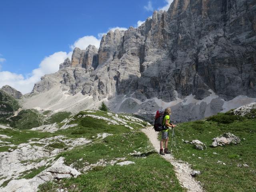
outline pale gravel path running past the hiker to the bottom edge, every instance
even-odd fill
[[[157,132],[155,132],[152,127],[144,128],[142,132],[148,136],[156,151],[159,152],[160,142],[158,140]],[[190,175],[192,169],[190,168],[189,164],[176,160],[170,154],[166,154],[162,157],[174,166],[176,176],[180,181],[181,186],[187,188],[188,192],[204,192],[199,182],[194,180],[194,178]]]

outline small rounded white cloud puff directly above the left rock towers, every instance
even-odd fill
[[[74,42],[70,48],[73,50],[75,47],[78,47],[82,50],[86,49],[88,45],[94,45],[96,48],[100,47],[100,39],[97,39],[94,36],[84,36],[82,38],[79,38]]]

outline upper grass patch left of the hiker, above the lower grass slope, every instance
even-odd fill
[[[62,152],[56,158],[62,156],[65,158],[65,164],[72,164],[75,168],[81,169],[84,167],[85,161],[78,161],[80,158],[85,159],[90,164],[94,164],[102,158],[111,161],[114,158],[126,157],[134,150],[143,153],[148,152],[148,144],[143,133],[130,131],[129,133],[108,136],[98,142]]]

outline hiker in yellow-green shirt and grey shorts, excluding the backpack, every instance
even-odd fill
[[[164,110],[164,118],[162,125],[166,126],[166,130],[162,130],[162,140],[160,141],[160,155],[170,154],[171,152],[168,151],[168,139],[169,139],[169,127],[174,128],[176,125],[170,124],[170,114],[171,109],[166,108]],[[164,149],[163,149],[164,146]]]

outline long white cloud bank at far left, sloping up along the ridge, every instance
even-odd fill
[[[59,65],[67,58],[66,52],[56,52],[42,60],[39,67],[34,69],[31,74],[24,77],[22,74],[16,74],[9,71],[0,72],[0,87],[10,85],[23,94],[31,92],[34,84],[38,82],[41,76],[54,73],[59,70]]]

